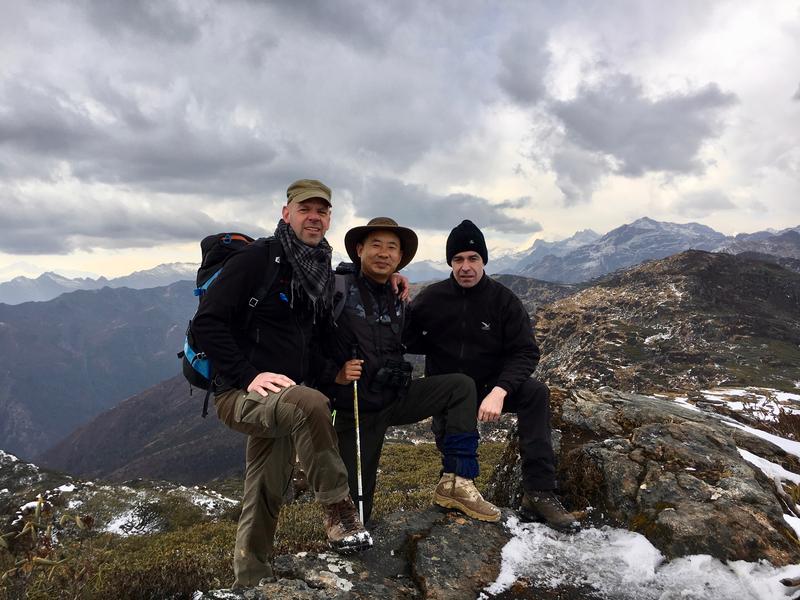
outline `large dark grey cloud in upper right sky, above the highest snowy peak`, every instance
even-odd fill
[[[552,102],[551,110],[569,141],[612,157],[615,172],[639,177],[648,171],[703,172],[700,148],[720,134],[722,110],[736,101],[713,83],[653,100],[633,77],[617,74],[582,87],[572,100]]]

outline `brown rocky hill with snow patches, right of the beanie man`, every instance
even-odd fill
[[[537,376],[632,391],[800,379],[800,274],[687,251],[595,282],[536,313]]]

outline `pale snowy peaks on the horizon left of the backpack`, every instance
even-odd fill
[[[176,281],[194,280],[197,267],[198,265],[193,263],[167,263],[113,279],[105,277],[70,279],[52,272],[43,273],[35,279],[20,276],[0,283],[0,302],[5,304],[43,302],[52,300],[65,292],[99,290],[104,287],[129,287],[135,290],[159,287]]]

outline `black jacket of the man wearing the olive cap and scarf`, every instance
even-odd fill
[[[267,249],[253,244],[233,254],[200,302],[192,332],[208,354],[215,373],[222,376],[217,391],[246,389],[261,372],[281,373],[297,383],[309,372],[314,322],[302,300],[291,306],[292,268],[281,253],[280,263],[269,264]],[[266,297],[248,306],[265,280],[266,270],[278,268]],[[248,311],[250,324],[244,326]]]

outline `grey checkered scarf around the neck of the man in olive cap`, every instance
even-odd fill
[[[333,297],[332,249],[328,240],[322,238],[318,246],[304,244],[283,220],[278,221],[275,237],[292,266],[292,307],[295,298],[299,298],[313,307],[315,315],[322,313]]]

